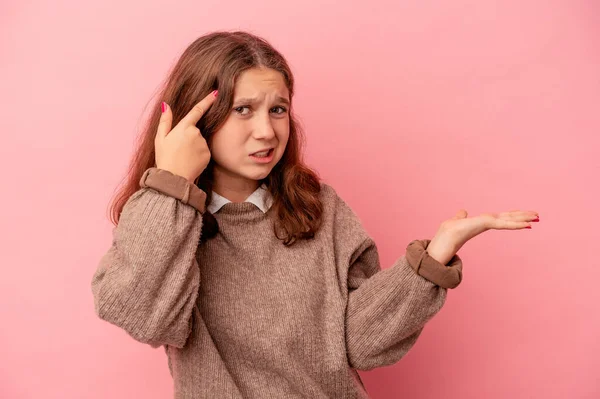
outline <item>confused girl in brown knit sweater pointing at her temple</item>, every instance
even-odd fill
[[[264,39],[200,37],[113,203],[95,312],[164,346],[175,398],[367,398],[356,370],[410,350],[461,282],[458,249],[537,216],[463,210],[382,270],[357,215],[303,164],[293,95]]]

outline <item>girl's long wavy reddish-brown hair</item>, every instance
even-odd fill
[[[111,201],[110,219],[115,226],[127,200],[140,189],[139,180],[144,171],[156,166],[154,137],[160,119],[160,102],[165,101],[170,105],[172,126],[175,126],[200,99],[218,89],[217,99],[196,125],[210,148],[211,137],[230,114],[237,78],[250,68],[270,68],[280,72],[290,95],[287,147],[269,176],[259,182],[259,185],[265,183],[273,196],[273,215],[276,215],[274,234],[286,246],[298,239],[314,237],[323,213],[319,198],[321,185],[319,176],[302,160],[305,137],[293,114],[294,77],[285,58],[273,46],[265,39],[244,31],[217,31],[199,37],[187,47],[171,69],[138,138],[125,184]],[[207,206],[212,197],[213,170],[214,161],[211,159],[195,181],[207,194]],[[206,210],[201,240],[214,237],[218,229],[217,220]]]

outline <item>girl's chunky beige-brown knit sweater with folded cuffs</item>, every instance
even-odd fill
[[[150,168],[92,279],[95,312],[164,345],[175,398],[368,398],[356,372],[391,365],[462,279],[415,240],[382,270],[351,208],[321,183],[323,225],[285,247],[267,213],[228,203],[200,240],[206,194]]]

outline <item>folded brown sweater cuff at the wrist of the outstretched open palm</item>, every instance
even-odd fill
[[[426,249],[431,240],[414,240],[406,247],[406,259],[421,277],[443,288],[456,288],[462,281],[462,260],[454,255],[448,265],[432,258]]]

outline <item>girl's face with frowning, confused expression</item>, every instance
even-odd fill
[[[252,68],[236,82],[225,124],[212,136],[215,185],[256,186],[283,156],[290,134],[289,93],[283,75]],[[251,154],[270,148],[266,158]]]

